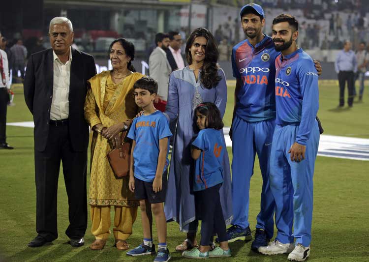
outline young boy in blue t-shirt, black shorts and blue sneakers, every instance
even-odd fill
[[[153,216],[156,221],[158,250],[154,262],[170,260],[166,244],[166,220],[163,203],[169,165],[168,138],[172,136],[166,116],[154,108],[157,83],[150,77],[143,77],[134,84],[136,104],[144,111],[133,120],[128,137],[133,140],[129,189],[140,201],[144,241],[128,251],[129,256],[155,254],[153,244]]]

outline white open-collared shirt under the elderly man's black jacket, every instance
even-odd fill
[[[54,57],[54,82],[53,100],[50,108],[50,119],[61,120],[69,115],[69,82],[70,64],[72,62],[72,50],[69,48],[69,59],[65,64],[53,51]]]

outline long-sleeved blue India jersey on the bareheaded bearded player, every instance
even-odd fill
[[[306,145],[319,107],[318,74],[301,48],[276,59],[276,124],[297,124],[296,142]]]

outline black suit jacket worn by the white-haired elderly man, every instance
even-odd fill
[[[89,126],[84,117],[87,80],[96,74],[93,57],[72,48],[69,84],[69,136],[75,151],[86,150],[89,144]],[[34,148],[45,150],[53,98],[53,50],[32,54],[28,60],[24,80],[24,95],[34,121]]]

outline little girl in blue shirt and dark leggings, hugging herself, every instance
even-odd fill
[[[223,183],[222,159],[227,150],[221,132],[223,122],[214,103],[202,103],[195,109],[196,125],[200,129],[192,142],[191,157],[195,160],[193,191],[196,216],[201,222],[201,242],[198,248],[184,251],[185,258],[230,257],[219,188]],[[216,233],[220,245],[210,251],[209,240]]]

